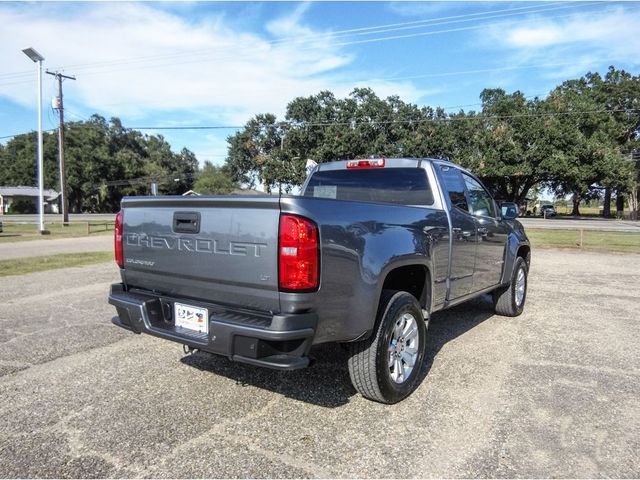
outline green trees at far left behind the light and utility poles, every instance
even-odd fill
[[[198,169],[193,152],[174,153],[161,136],[147,136],[99,115],[68,122],[65,136],[67,196],[74,212],[113,212],[124,195],[145,195],[153,179],[163,193],[191,188]],[[58,135],[44,134],[44,185],[60,189]],[[0,148],[0,185],[35,186],[36,134],[18,135]],[[177,181],[176,181],[177,179]]]

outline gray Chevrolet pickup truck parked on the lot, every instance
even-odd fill
[[[344,343],[355,388],[395,403],[419,383],[433,312],[484,293],[522,312],[517,212],[459,166],[409,158],[323,163],[300,196],[124,198],[113,323],[282,370]]]

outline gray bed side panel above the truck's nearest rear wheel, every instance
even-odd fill
[[[423,265],[433,283],[444,284],[444,211],[305,197],[283,197],[281,209],[315,221],[320,229],[319,290],[280,294],[283,312],[318,313],[315,343],[353,340],[371,331],[384,279],[394,268]]]

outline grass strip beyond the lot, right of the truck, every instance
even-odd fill
[[[527,228],[527,236],[534,248],[579,249],[579,230],[544,230]],[[640,253],[640,234],[585,230],[582,248],[621,253]]]

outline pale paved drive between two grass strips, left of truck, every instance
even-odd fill
[[[107,250],[113,250],[113,236],[111,235],[6,243],[2,243],[0,239],[0,260],[55,255],[58,253],[98,252]]]

